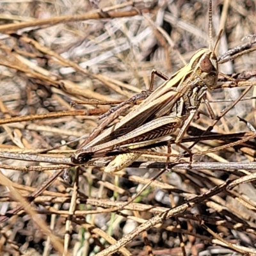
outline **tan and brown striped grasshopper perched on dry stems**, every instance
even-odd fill
[[[218,38],[220,38],[219,33]],[[212,38],[212,3],[209,1],[209,49],[198,50],[189,63],[180,68],[172,77],[168,78],[152,71],[151,83],[158,75],[166,81],[152,93],[134,106],[132,111],[124,116],[117,124],[103,131],[71,157],[74,164],[90,164],[95,159],[111,155],[116,149],[136,148],[138,145],[150,145],[157,140],[172,135],[180,129],[175,143],[180,145],[189,124],[198,113],[202,100],[206,100],[207,90],[216,86],[218,79],[218,62],[216,45],[211,45]],[[209,107],[209,106],[208,106]],[[209,108],[208,108],[209,109]],[[209,113],[212,111],[209,109]],[[105,172],[116,172],[129,166],[141,154],[129,152],[116,156],[109,163]]]

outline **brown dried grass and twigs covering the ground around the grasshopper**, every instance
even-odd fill
[[[129,99],[153,68],[170,76],[208,45],[208,1],[1,1],[1,255],[255,255],[256,2],[212,4],[219,55],[250,44],[220,65],[238,80],[220,76],[208,95],[220,120],[191,124],[187,145],[214,125],[193,163],[171,163],[125,204],[164,168],[166,147],[108,175],[68,157],[114,106],[103,102]],[[70,107],[92,99],[102,104]]]

